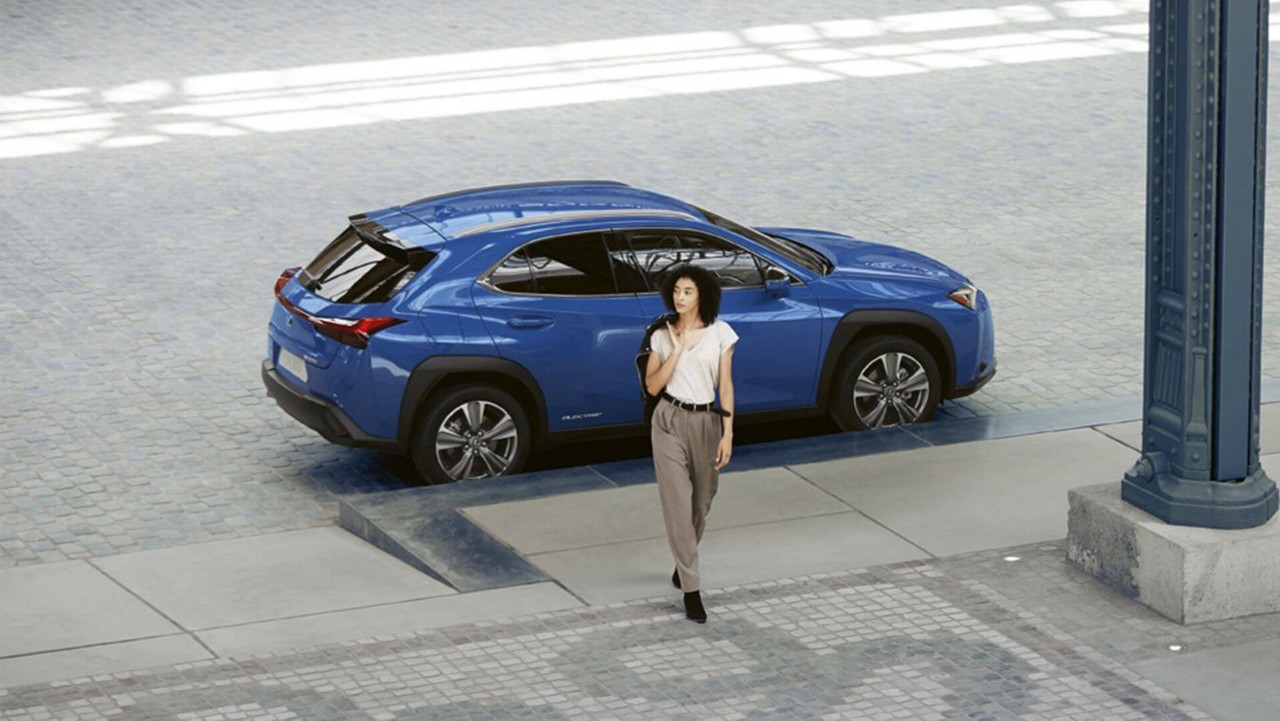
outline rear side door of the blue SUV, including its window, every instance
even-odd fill
[[[527,243],[471,292],[498,352],[538,380],[550,432],[643,419],[644,315],[634,293],[617,291],[604,243],[599,232]]]

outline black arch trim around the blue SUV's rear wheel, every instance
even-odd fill
[[[401,403],[399,430],[397,433],[397,444],[403,453],[410,450],[417,412],[431,392],[451,379],[466,380],[466,377],[477,374],[499,375],[527,393],[534,405],[532,409],[527,409],[530,411],[529,424],[534,430],[532,447],[539,448],[545,443],[547,398],[538,382],[534,380],[534,375],[525,366],[512,360],[493,356],[431,356],[417,364],[404,385],[404,400]],[[483,382],[483,379],[476,379],[476,382]]]

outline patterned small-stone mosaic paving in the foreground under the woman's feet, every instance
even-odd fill
[[[1098,590],[1061,544],[543,613],[0,693],[12,721],[1210,718],[1128,663],[1280,636],[1179,626]],[[659,579],[655,579],[658,583]],[[1048,620],[1052,619],[1052,622]],[[1076,621],[1088,620],[1087,624]]]

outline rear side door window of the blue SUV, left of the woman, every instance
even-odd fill
[[[489,282],[503,291],[544,296],[605,296],[617,292],[602,233],[530,243],[495,268]]]

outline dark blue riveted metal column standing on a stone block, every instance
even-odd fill
[[[1125,501],[1170,524],[1276,512],[1258,464],[1266,0],[1153,0],[1142,456]]]

